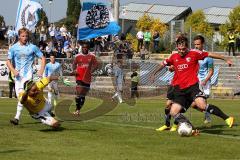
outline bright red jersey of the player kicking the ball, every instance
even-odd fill
[[[208,52],[199,50],[190,50],[185,56],[179,53],[172,54],[168,59],[165,59],[162,64],[173,65],[175,69],[172,85],[179,86],[180,89],[188,88],[196,84],[198,80],[198,60],[203,60],[208,56]]]

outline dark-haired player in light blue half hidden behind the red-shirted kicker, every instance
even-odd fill
[[[194,46],[196,49],[203,51],[204,42],[205,42],[204,37],[202,37],[201,35],[194,37]],[[204,60],[199,61],[198,79],[207,98],[210,96],[211,77],[214,72],[213,68],[214,67],[212,58],[207,57]],[[207,124],[210,122],[211,122],[210,113],[205,112],[204,123]]]

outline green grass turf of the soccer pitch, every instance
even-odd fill
[[[83,111],[99,102],[87,98]],[[88,121],[64,121],[62,128],[54,131],[32,119],[26,109],[20,125],[12,126],[9,119],[15,114],[16,100],[0,99],[0,159],[240,159],[239,100],[210,100],[235,117],[233,128],[214,116],[208,128],[203,124],[203,113],[189,110],[186,116],[201,130],[197,137],[154,130],[164,123],[164,103],[164,99],[140,99],[135,106],[120,104]]]

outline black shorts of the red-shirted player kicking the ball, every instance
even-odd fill
[[[172,100],[174,103],[178,103],[182,106],[181,112],[186,112],[197,97],[203,97],[206,99],[206,95],[204,94],[199,83],[196,83],[185,89],[180,89],[178,86],[175,86],[173,89],[173,94],[174,98]]]

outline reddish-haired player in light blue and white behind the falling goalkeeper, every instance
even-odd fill
[[[17,96],[23,90],[24,82],[33,77],[32,65],[35,56],[41,58],[41,68],[38,71],[38,76],[43,75],[46,64],[46,59],[43,56],[43,53],[37,46],[29,42],[29,30],[21,28],[18,31],[18,36],[19,41],[9,49],[6,62],[8,68],[15,76],[15,91]],[[18,125],[22,109],[22,104],[18,102],[15,118],[10,120],[12,124]]]

